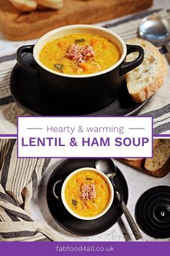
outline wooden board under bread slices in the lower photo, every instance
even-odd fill
[[[143,171],[146,174],[156,176],[159,178],[166,176],[167,174],[169,174],[169,171],[170,171],[170,158],[169,158],[169,161],[167,161],[166,164],[164,164],[164,166],[162,168],[158,169],[157,171],[147,171],[146,170],[146,168],[144,167],[145,158],[138,160],[138,161],[129,161],[129,160],[121,158],[121,159],[119,159],[119,161],[127,164],[130,167],[137,169],[138,171]]]

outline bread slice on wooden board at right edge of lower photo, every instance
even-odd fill
[[[162,168],[170,157],[170,140],[158,140],[156,148],[153,150],[153,158],[146,158],[145,168],[148,171],[158,171]]]

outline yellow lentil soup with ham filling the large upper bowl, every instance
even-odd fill
[[[91,74],[117,63],[120,50],[100,35],[75,33],[54,39],[43,46],[40,61],[64,74]]]

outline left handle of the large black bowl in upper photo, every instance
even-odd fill
[[[33,54],[33,49],[34,49],[34,45],[19,47],[19,49],[17,50],[17,62],[19,66],[21,66],[23,69],[27,70],[28,72],[30,72],[31,74],[37,77],[39,75],[38,69],[36,69],[35,67],[32,67],[30,64],[25,62],[24,59],[22,58],[23,53]]]

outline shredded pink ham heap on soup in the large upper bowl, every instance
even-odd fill
[[[94,57],[94,51],[92,46],[78,46],[74,44],[68,48],[67,57],[73,61],[84,63],[87,59]]]

